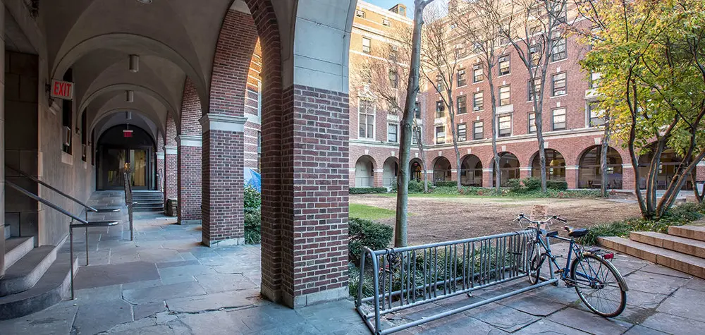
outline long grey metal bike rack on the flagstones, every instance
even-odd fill
[[[390,334],[553,284],[558,279],[382,329],[381,318],[388,313],[524,278],[531,238],[531,231],[517,231],[405,248],[364,248],[357,312],[374,334]]]

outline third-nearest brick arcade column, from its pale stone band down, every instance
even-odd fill
[[[178,135],[178,224],[201,223],[201,137]]]

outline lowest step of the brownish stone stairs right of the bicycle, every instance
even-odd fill
[[[685,255],[677,251],[658,248],[654,245],[639,243],[626,238],[601,237],[597,239],[605,248],[624,252],[625,254],[648,260],[664,267],[685,272],[705,279],[705,260],[700,257]]]

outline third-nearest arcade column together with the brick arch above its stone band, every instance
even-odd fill
[[[178,222],[201,220],[201,102],[191,80],[187,79],[181,102],[178,135]]]

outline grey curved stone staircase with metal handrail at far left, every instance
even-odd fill
[[[34,237],[6,238],[5,275],[0,279],[0,319],[44,310],[68,297],[71,269],[59,247],[35,248]],[[73,262],[73,267],[78,267]]]

